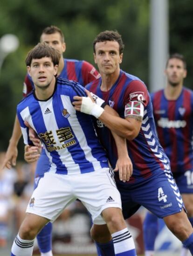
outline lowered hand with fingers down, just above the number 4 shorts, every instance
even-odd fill
[[[119,179],[123,182],[129,181],[133,173],[133,165],[129,156],[119,157],[117,159],[114,171],[119,172]]]

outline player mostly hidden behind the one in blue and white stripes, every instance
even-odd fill
[[[57,49],[61,56],[58,65],[58,77],[68,78],[69,80],[78,81],[81,85],[86,85],[92,80],[96,79],[100,76],[93,65],[86,61],[78,61],[73,59],[65,59],[63,58],[63,53],[66,50],[66,44],[64,42],[64,35],[60,28],[55,26],[50,26],[45,28],[42,31],[41,42],[46,42],[51,47]],[[27,74],[24,82],[23,88],[23,96],[26,97],[29,92],[34,88],[34,83],[31,77]],[[11,168],[11,165],[16,164],[17,158],[17,144],[21,137],[21,128],[19,121],[16,117],[14,123],[13,134],[9,141],[9,146],[7,149],[6,157],[3,163],[3,167],[7,166],[7,168]],[[34,160],[39,158],[38,154],[34,154]],[[35,171],[35,187],[38,184],[39,179],[44,175],[49,168],[49,159],[45,154],[44,149],[41,152],[41,157],[38,160],[37,168]],[[48,223],[37,236],[38,245],[41,251],[41,256],[52,256],[51,251],[51,232],[52,232],[52,224]]]

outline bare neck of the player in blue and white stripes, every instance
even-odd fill
[[[55,89],[55,77],[52,79],[51,83],[47,88],[41,88],[35,85],[35,96],[38,100],[48,100]]]

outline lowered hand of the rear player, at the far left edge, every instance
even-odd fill
[[[4,169],[5,167],[7,167],[8,169],[11,169],[12,166],[15,166],[17,155],[18,155],[17,146],[10,142],[7,148],[5,159],[3,161],[3,164],[0,166],[0,169]]]

